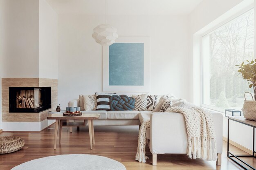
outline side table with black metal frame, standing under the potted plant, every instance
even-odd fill
[[[241,124],[244,124],[244,125],[247,125],[247,126],[251,126],[253,128],[252,155],[234,155],[231,152],[229,152],[229,120],[236,121],[238,123],[241,123]],[[255,134],[255,128],[256,128],[256,121],[247,120],[247,119],[245,119],[242,116],[229,116],[228,117],[228,123],[227,123],[227,157],[229,159],[231,159],[232,161],[234,161],[235,163],[237,163],[242,168],[244,168],[245,170],[250,170],[250,169],[248,169],[247,167],[243,166],[241,164],[241,162],[244,163],[245,165],[247,165],[248,167],[252,168],[252,170],[256,170],[256,167],[252,167],[251,165],[249,165],[245,161],[239,159],[239,157],[254,157],[254,158],[256,158],[256,156],[255,156],[256,152],[255,152],[255,149],[254,149],[254,145],[255,145],[255,135],[254,135]],[[234,157],[236,159],[238,159],[240,162],[237,161],[236,159],[234,159]]]

